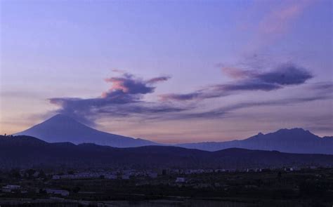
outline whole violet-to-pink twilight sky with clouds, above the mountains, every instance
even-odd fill
[[[0,1],[0,133],[333,135],[332,1]]]

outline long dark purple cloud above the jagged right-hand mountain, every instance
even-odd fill
[[[230,73],[230,69],[227,70]],[[268,72],[233,69],[231,74],[237,74],[237,80],[230,84],[217,84],[186,94],[161,95],[162,100],[203,100],[207,98],[218,98],[231,95],[235,91],[273,91],[289,85],[304,84],[313,75],[303,67],[294,64],[283,64]],[[239,75],[241,74],[241,75]],[[242,79],[239,79],[242,76]]]

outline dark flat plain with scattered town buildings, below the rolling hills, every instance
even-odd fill
[[[11,170],[1,173],[1,186],[3,190],[9,184],[20,188],[0,193],[0,206],[333,205],[333,168],[290,170],[164,171],[150,177],[138,173],[112,179],[55,179],[42,171]],[[65,194],[50,194],[48,189],[61,189]]]

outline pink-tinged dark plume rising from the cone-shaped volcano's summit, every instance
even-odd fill
[[[117,71],[118,72],[118,71]],[[143,101],[143,95],[153,93],[154,84],[166,81],[169,76],[158,76],[152,79],[139,79],[132,74],[122,72],[122,76],[105,79],[112,86],[97,98],[50,98],[49,102],[58,105],[56,112],[67,114],[72,118],[94,125],[100,116],[127,116],[129,114],[154,114],[179,112],[183,109],[159,103]]]

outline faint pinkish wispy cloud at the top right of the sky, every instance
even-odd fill
[[[269,49],[270,46],[281,41],[282,38],[292,32],[294,23],[301,18],[301,15],[310,8],[311,4],[316,1],[311,0],[290,0],[290,1],[269,1],[268,4],[262,4],[257,1],[254,4],[254,10],[249,10],[249,15],[260,15],[258,11],[265,8],[263,15],[257,22],[253,18],[248,18],[252,21],[244,22],[245,28],[251,29],[247,31],[249,39],[247,44],[244,44],[242,52],[253,53]]]

